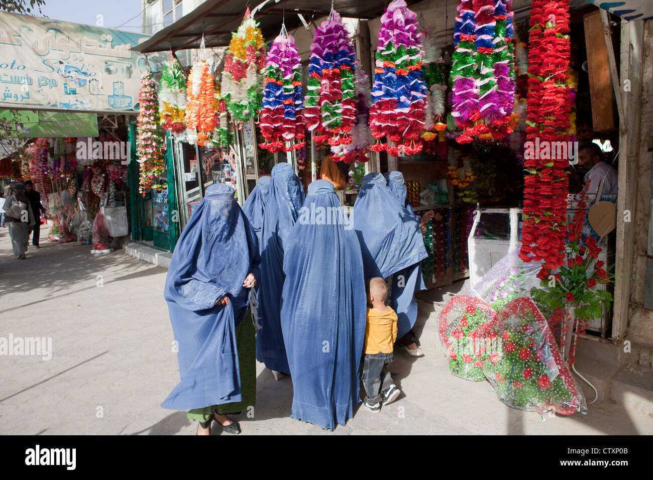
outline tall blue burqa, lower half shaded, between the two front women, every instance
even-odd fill
[[[292,165],[279,163],[272,168],[270,193],[263,212],[261,231],[261,330],[256,335],[256,359],[270,370],[288,372],[281,334],[281,289],[283,289],[283,249],[285,240],[304,203],[304,187]]]

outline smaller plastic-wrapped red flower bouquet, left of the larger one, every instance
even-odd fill
[[[454,296],[442,310],[438,329],[449,370],[456,377],[485,380],[486,336],[496,312],[480,298]]]

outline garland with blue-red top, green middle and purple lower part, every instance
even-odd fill
[[[454,25],[452,116],[456,140],[503,138],[515,101],[512,0],[461,0]]]

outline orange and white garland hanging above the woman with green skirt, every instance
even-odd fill
[[[189,144],[204,146],[215,129],[215,89],[208,63],[198,59],[186,84],[186,138]]]

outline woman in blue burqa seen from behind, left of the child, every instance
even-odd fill
[[[353,416],[365,334],[360,245],[333,184],[316,180],[286,242],[281,327],[291,417],[333,430]]]

